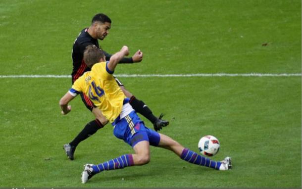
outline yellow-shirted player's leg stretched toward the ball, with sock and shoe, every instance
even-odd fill
[[[189,163],[194,163],[197,165],[205,166],[205,167],[210,167],[216,170],[229,170],[232,167],[231,164],[231,158],[226,157],[222,161],[213,161],[209,158],[203,157],[200,154],[183,147],[180,143],[174,141],[170,137],[159,134],[160,135],[160,142],[158,144],[159,147],[163,147],[166,149],[169,149],[176,153],[181,159],[189,162]]]

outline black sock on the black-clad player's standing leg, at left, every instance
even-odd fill
[[[103,125],[99,120],[93,120],[89,122],[84,129],[78,134],[76,138],[72,142],[69,142],[72,146],[77,146],[80,142],[84,141],[88,137],[95,134],[99,129],[101,129]]]

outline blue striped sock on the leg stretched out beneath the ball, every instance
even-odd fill
[[[191,151],[188,148],[185,148],[183,152],[180,155],[180,158],[188,161],[190,163],[194,163],[201,166],[211,167],[213,169],[219,170],[219,167],[221,165],[221,162],[219,161],[212,161],[209,158],[203,157],[199,155],[198,153]]]

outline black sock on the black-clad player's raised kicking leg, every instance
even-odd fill
[[[142,100],[137,99],[135,96],[131,96],[129,103],[136,112],[149,119],[151,123],[154,123],[157,120],[157,117],[153,115],[151,109],[149,109]]]

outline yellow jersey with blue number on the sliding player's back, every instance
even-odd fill
[[[107,64],[108,61],[95,64],[91,71],[85,72],[74,82],[69,93],[73,96],[86,94],[112,123],[121,113],[126,96],[117,85]]]

